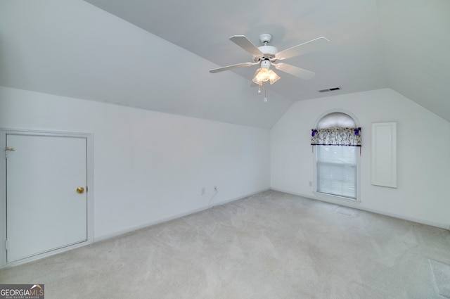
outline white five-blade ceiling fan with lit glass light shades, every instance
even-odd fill
[[[271,39],[271,34],[261,34],[259,36],[259,41],[264,46],[257,47],[252,44],[252,42],[250,42],[250,40],[244,35],[233,35],[232,37],[230,37],[231,42],[237,44],[242,49],[252,54],[253,62],[238,63],[235,65],[224,66],[222,68],[214,68],[210,70],[210,72],[216,73],[223,72],[224,70],[233,70],[234,68],[244,68],[251,65],[259,65],[259,68],[255,72],[255,77],[253,77],[252,81],[261,86],[263,82],[269,81],[270,84],[273,84],[278,79],[280,79],[280,77],[276,75],[273,70],[270,70],[270,66],[272,65],[277,70],[287,72],[288,74],[294,75],[295,77],[310,79],[311,77],[316,75],[315,72],[304,70],[303,68],[297,68],[296,66],[289,65],[287,63],[280,63],[278,61],[283,61],[288,58],[323,49],[328,45],[328,42],[330,42],[325,37],[318,37],[316,39],[312,39],[309,42],[304,42],[303,44],[293,46],[289,49],[278,51],[276,47],[268,45]]]

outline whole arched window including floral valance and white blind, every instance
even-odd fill
[[[311,132],[315,151],[315,191],[358,199],[361,128],[354,117],[333,112],[321,117]]]

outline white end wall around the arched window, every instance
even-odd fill
[[[362,127],[361,203],[342,205],[448,228],[450,123],[392,89],[298,101],[271,129],[271,188],[316,198],[311,129],[328,110],[355,115]],[[397,122],[398,188],[371,185],[371,123]]]

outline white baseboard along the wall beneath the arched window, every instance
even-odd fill
[[[277,188],[271,188],[271,190],[288,193],[288,194],[292,194],[292,195],[296,195],[296,196],[302,196],[304,198],[309,198],[314,201],[325,201],[327,203],[334,203],[335,205],[344,205],[349,208],[355,208],[358,210],[364,210],[366,212],[373,212],[375,214],[385,215],[385,216],[389,216],[389,217],[398,218],[401,220],[407,220],[407,221],[416,222],[416,223],[420,223],[420,224],[430,225],[431,227],[439,227],[440,229],[449,229],[450,230],[450,225],[446,224],[446,223],[432,222],[432,221],[428,221],[428,220],[418,219],[415,217],[398,215],[398,214],[385,212],[385,211],[381,211],[381,210],[366,208],[364,206],[361,206],[360,201],[347,201],[347,200],[338,200],[338,199],[333,200],[332,198],[322,198],[319,196],[310,196],[310,195],[295,193],[295,192],[291,192],[291,191],[287,191],[287,190],[283,190],[283,189],[277,189]]]

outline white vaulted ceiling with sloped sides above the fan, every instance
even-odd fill
[[[330,39],[284,61],[316,76],[277,71],[269,103],[257,66],[208,72],[251,61],[231,35],[262,33]],[[449,34],[448,0],[0,1],[0,85],[263,128],[293,101],[390,87],[450,121]]]

